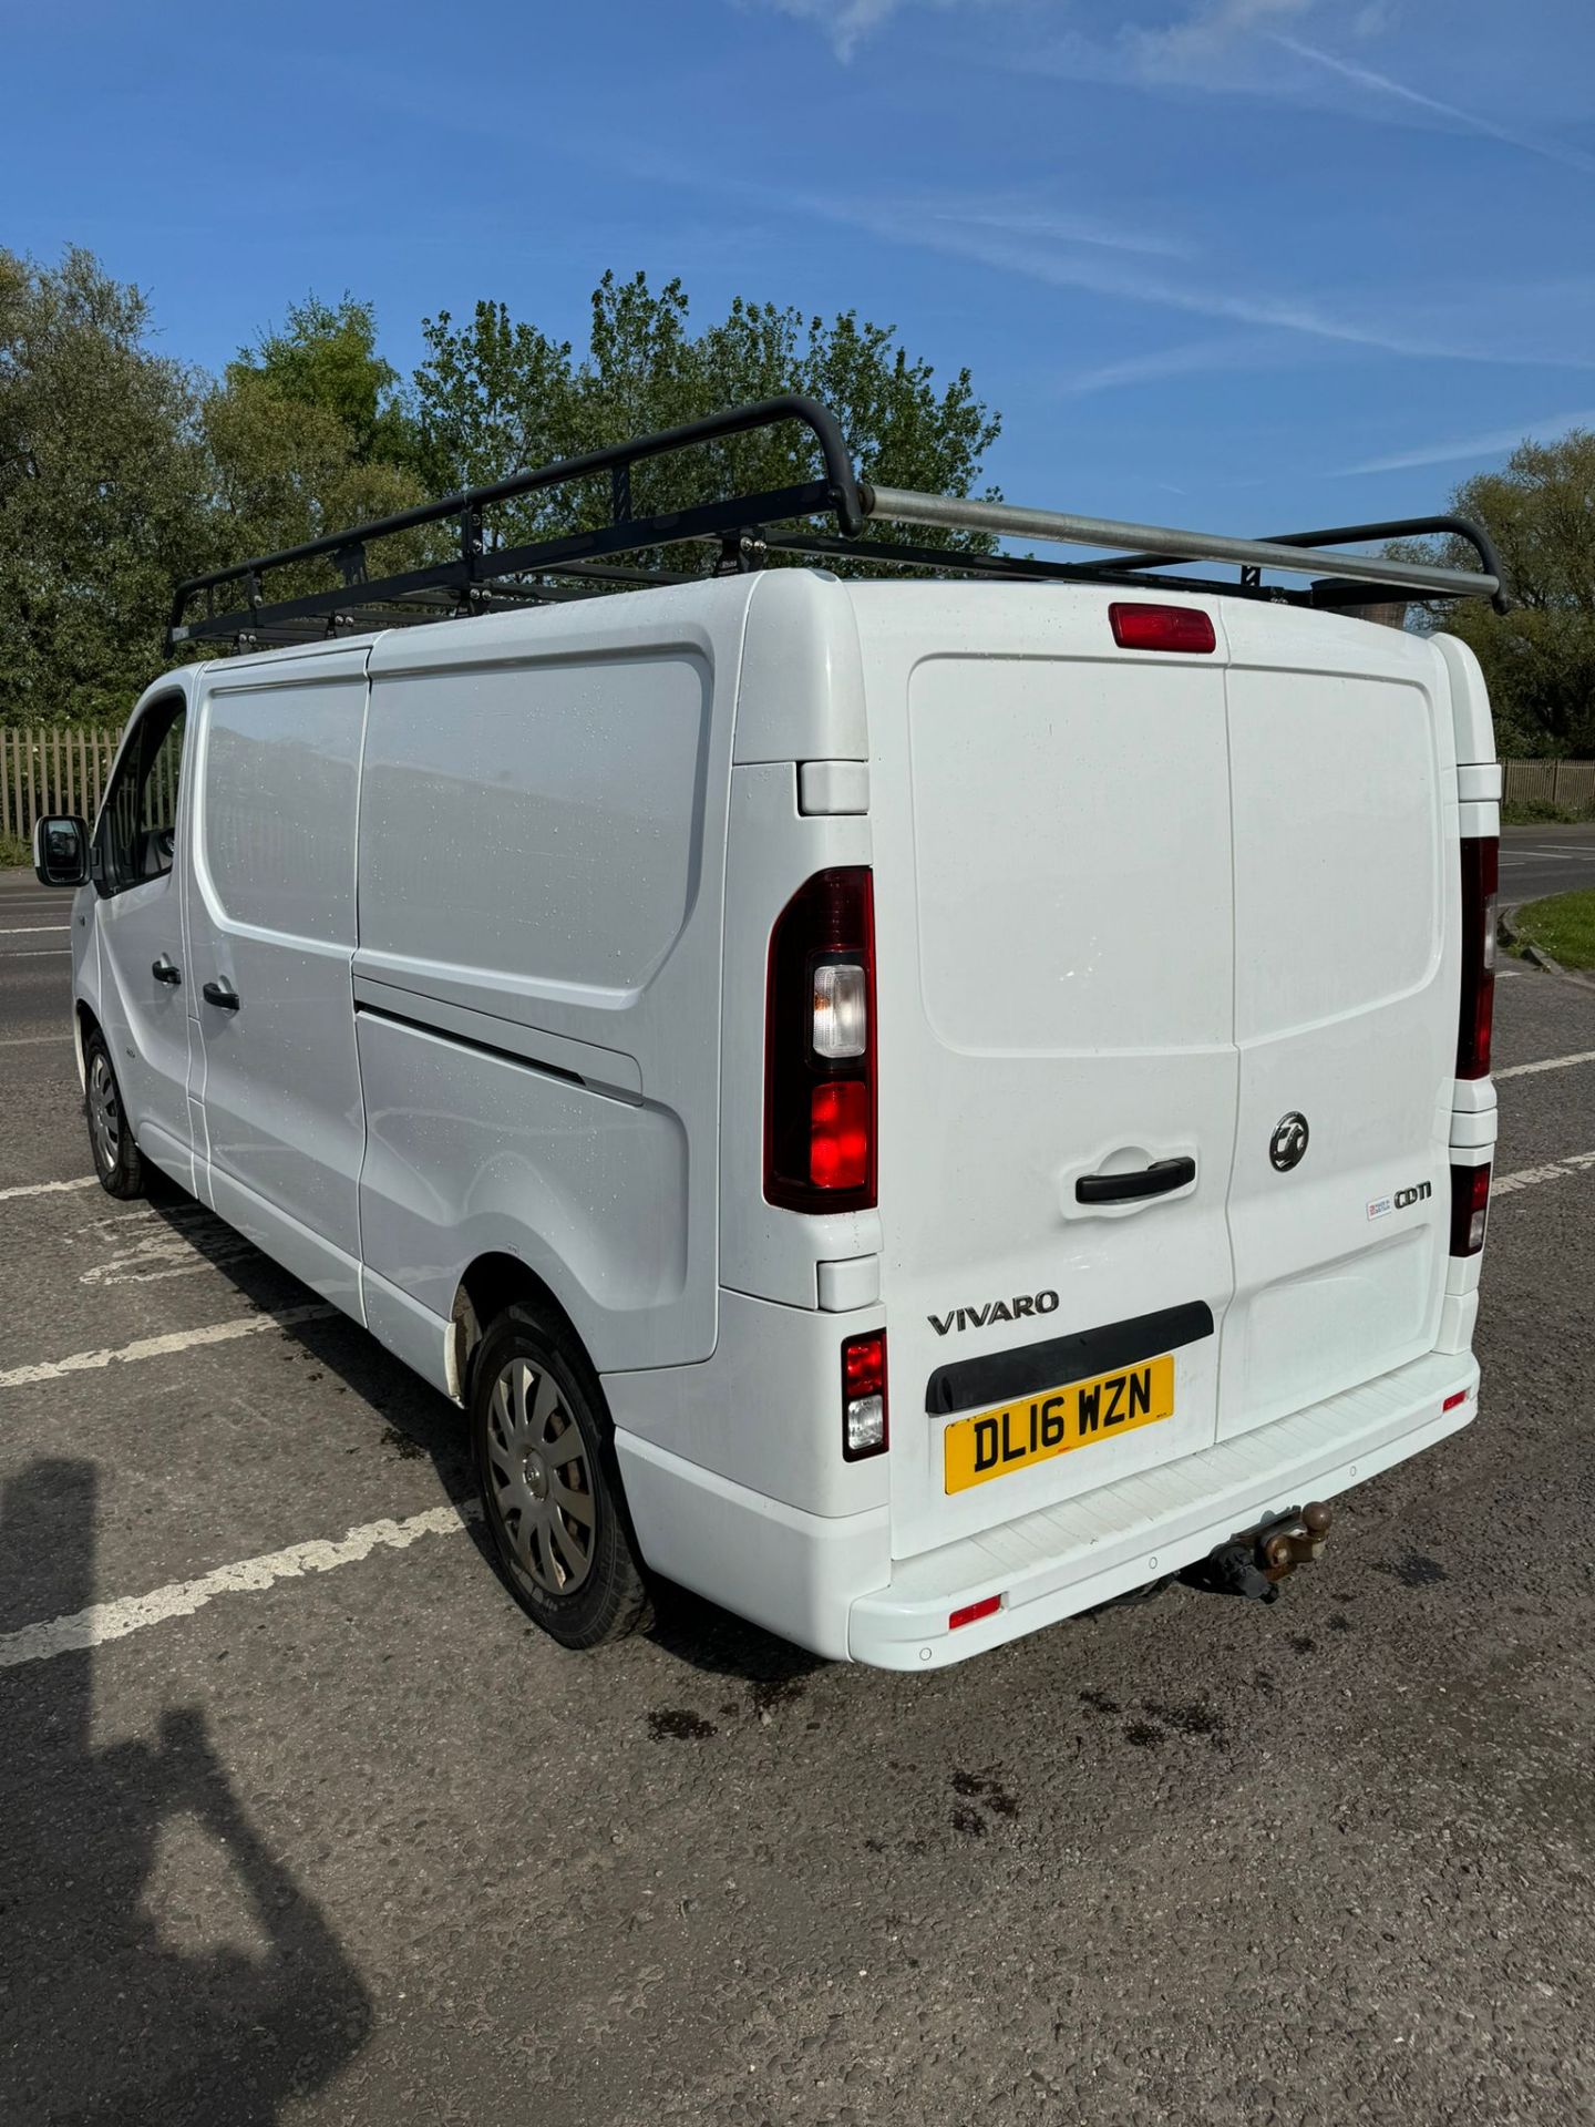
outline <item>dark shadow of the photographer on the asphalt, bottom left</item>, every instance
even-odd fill
[[[0,1614],[87,1608],[94,1548],[94,1463],[26,1468],[0,1493]],[[370,1997],[249,1823],[204,1710],[96,1748],[94,1661],[0,1670],[0,2121],[270,2127],[362,2048]]]

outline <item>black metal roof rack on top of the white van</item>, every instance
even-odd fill
[[[644,462],[755,430],[797,423],[817,447],[819,476],[761,493],[725,496],[681,508],[632,513],[632,470]],[[515,545],[491,545],[487,513],[521,496],[591,483],[608,474],[608,521],[583,532],[553,532]],[[832,519],[834,532],[815,530],[812,519]],[[868,538],[868,523],[927,525],[942,532],[976,532],[993,538],[1029,538],[1102,549],[1102,559],[1048,562],[1034,555],[963,551],[914,545],[900,536]],[[447,551],[434,553],[391,574],[368,574],[366,549],[376,540],[447,525]],[[1382,555],[1340,553],[1346,545],[1421,534],[1453,534],[1472,545],[1478,570],[1442,568],[1433,562],[1395,562]],[[442,502],[423,502],[328,532],[323,538],[259,555],[234,568],[189,576],[177,585],[166,630],[168,649],[191,642],[304,642],[355,630],[410,625],[461,613],[591,598],[640,585],[687,583],[698,572],[659,566],[666,549],[712,542],[715,572],[759,568],[768,553],[815,559],[859,559],[889,568],[929,568],[953,576],[1002,576],[1027,583],[1089,581],[1125,585],[1168,585],[1170,589],[1223,591],[1242,598],[1274,598],[1312,606],[1355,606],[1406,598],[1489,598],[1497,610],[1510,604],[1501,564],[1489,536],[1463,517],[1410,517],[1389,523],[1336,525],[1323,532],[1282,532],[1267,540],[1229,538],[1219,532],[1176,532],[1165,525],[1119,523],[1108,517],[1074,517],[1063,510],[1034,510],[1010,502],[966,496],[925,496],[902,487],[872,487],[859,481],[836,415],[817,400],[787,393],[755,406],[732,406],[702,421],[634,436],[629,442],[583,457],[557,459],[536,472],[515,472],[491,487],[472,487]],[[627,555],[649,557],[625,562]],[[1240,581],[1165,576],[1187,562],[1233,562]],[[323,564],[336,583],[270,596],[268,579],[283,570],[304,574]],[[328,568],[330,564],[330,568]],[[1285,591],[1263,585],[1263,570],[1319,576],[1306,589]]]

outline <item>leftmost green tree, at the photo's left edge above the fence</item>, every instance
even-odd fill
[[[202,381],[136,287],[0,251],[0,721],[121,721],[204,564]]]

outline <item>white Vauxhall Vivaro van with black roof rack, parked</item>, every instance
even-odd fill
[[[40,821],[100,1180],[162,1168],[466,1406],[568,1646],[649,1572],[906,1670],[1208,1559],[1272,1593],[1308,1502],[1476,1412],[1489,706],[1333,608],[1499,570],[838,500],[829,449],[821,491],[185,587],[247,606],[179,642],[317,640],[170,672],[91,844]],[[757,566],[870,517],[1153,553]],[[734,572],[615,587],[666,536]],[[487,610],[430,619],[451,568]]]

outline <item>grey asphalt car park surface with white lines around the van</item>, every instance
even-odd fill
[[[919,1678],[532,1631],[453,1408],[85,1183],[66,906],[0,878],[6,2127],[1591,2118],[1595,989],[1501,983],[1480,1421],[1272,1608]]]

